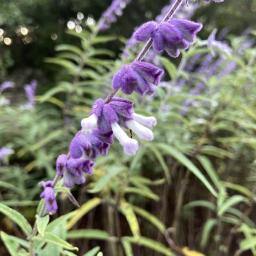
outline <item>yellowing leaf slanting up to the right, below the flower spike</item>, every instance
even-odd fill
[[[85,214],[97,207],[101,203],[101,199],[95,197],[84,203],[78,210],[74,211],[74,215],[67,224],[67,229],[71,229]]]

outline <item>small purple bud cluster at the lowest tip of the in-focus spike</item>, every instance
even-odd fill
[[[41,182],[41,186],[43,187],[43,192],[40,196],[44,199],[45,207],[49,214],[55,214],[58,210],[58,205],[53,188],[53,181],[43,181]]]

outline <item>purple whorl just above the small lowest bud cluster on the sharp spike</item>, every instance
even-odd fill
[[[67,155],[62,154],[57,158],[56,171],[57,175],[63,177],[65,187],[72,188],[75,184],[85,183],[85,173],[91,175],[93,161],[80,158],[68,158]]]

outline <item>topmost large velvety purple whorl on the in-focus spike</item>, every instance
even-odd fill
[[[149,21],[140,26],[134,36],[142,42],[151,38],[156,52],[166,51],[176,58],[181,49],[187,49],[194,42],[201,28],[202,24],[185,19],[171,19],[162,23]]]

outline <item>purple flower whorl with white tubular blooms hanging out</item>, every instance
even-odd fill
[[[135,113],[132,102],[123,98],[114,97],[109,103],[103,99],[97,100],[92,115],[82,120],[82,131],[91,127],[91,120],[96,120],[94,124],[101,134],[113,133],[126,155],[135,155],[139,145],[122,127],[132,130],[142,140],[151,141],[154,138],[150,128],[156,125],[156,119]]]

